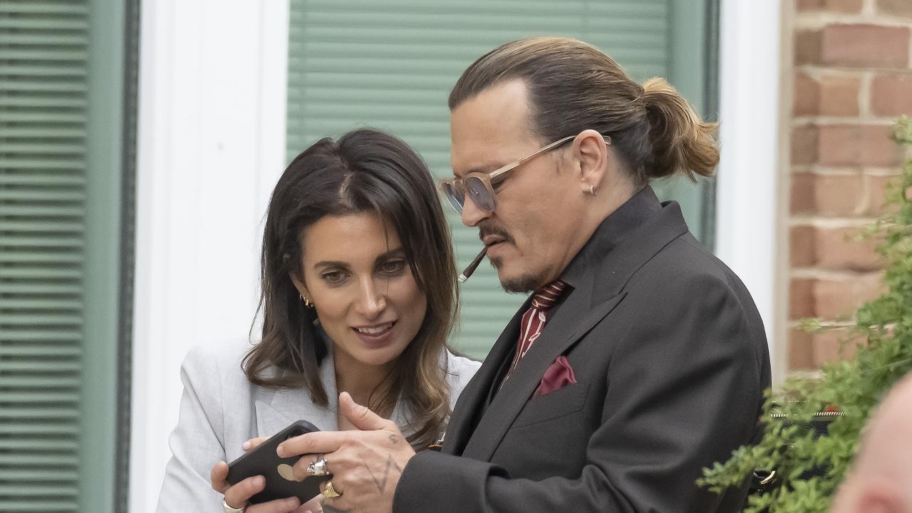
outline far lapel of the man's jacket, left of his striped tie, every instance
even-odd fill
[[[530,299],[531,300],[531,299]],[[472,433],[476,432],[477,419],[487,407],[488,393],[491,391],[497,372],[503,361],[510,355],[519,336],[519,324],[523,319],[523,312],[528,308],[529,300],[514,315],[501,336],[494,342],[491,351],[484,359],[482,367],[472,377],[472,380],[462,389],[453,413],[447,432],[444,437],[442,452],[450,455],[461,455]]]

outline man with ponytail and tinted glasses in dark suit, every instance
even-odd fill
[[[648,186],[710,174],[714,127],[664,80],[640,86],[559,37],[479,58],[450,107],[442,188],[503,288],[533,295],[461,394],[441,453],[415,455],[342,394],[363,431],[307,434],[280,455],[307,455],[305,476],[323,454],[326,506],[358,513],[740,511],[744,490],[694,482],[759,434],[762,321]]]

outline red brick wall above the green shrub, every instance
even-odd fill
[[[790,370],[839,358],[837,332],[805,333],[798,319],[847,318],[879,293],[871,241],[851,239],[883,213],[884,187],[903,155],[887,139],[912,115],[912,0],[794,0]]]

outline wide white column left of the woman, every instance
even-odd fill
[[[155,508],[195,344],[246,336],[285,166],[288,1],[144,0],[130,512]]]

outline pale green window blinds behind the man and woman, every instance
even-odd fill
[[[602,48],[636,79],[668,76],[673,16],[667,0],[292,0],[288,158],[320,137],[371,126],[449,176],[447,97],[475,58],[512,39],[556,34]],[[450,221],[461,269],[482,245],[477,230],[456,215]],[[482,358],[524,296],[504,293],[484,263],[461,299],[453,345]]]

